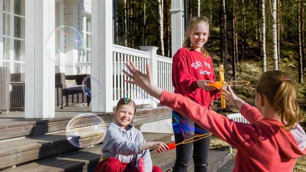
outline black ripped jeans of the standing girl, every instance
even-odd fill
[[[204,132],[209,133],[206,129],[200,127],[197,123],[191,121],[190,119],[186,118],[184,115],[173,111],[181,120],[188,122],[191,125],[194,125],[196,128],[203,130]],[[172,114],[173,114],[172,113]],[[172,123],[177,123],[177,121],[172,117]],[[194,134],[201,135],[203,133]],[[175,143],[181,143],[184,141],[184,136],[181,133],[174,133]],[[187,138],[188,139],[188,138]],[[173,172],[186,172],[189,162],[190,162],[190,155],[192,151],[193,145],[193,162],[194,162],[194,171],[195,172],[202,172],[207,171],[208,165],[208,153],[209,153],[209,145],[211,142],[211,136],[203,138],[201,140],[197,140],[187,144],[180,144],[176,146],[176,161],[173,167]]]

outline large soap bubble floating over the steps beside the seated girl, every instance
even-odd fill
[[[98,145],[104,138],[106,124],[95,114],[79,114],[72,118],[66,127],[67,140],[77,148]]]

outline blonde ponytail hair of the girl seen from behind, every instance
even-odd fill
[[[256,92],[267,97],[274,111],[281,115],[285,129],[295,129],[297,123],[303,120],[296,102],[295,82],[287,73],[279,70],[263,73],[257,83]]]

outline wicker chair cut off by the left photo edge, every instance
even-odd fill
[[[9,67],[0,66],[0,112],[7,114],[10,108]]]

